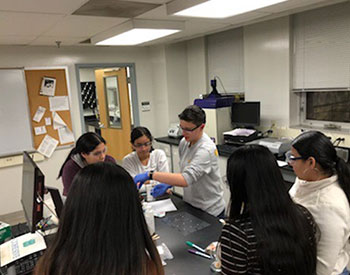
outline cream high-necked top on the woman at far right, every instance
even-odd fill
[[[317,275],[342,273],[349,262],[350,208],[338,177],[312,182],[297,178],[289,193],[311,212],[321,231]]]

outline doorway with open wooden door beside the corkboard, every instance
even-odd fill
[[[82,129],[100,134],[108,154],[120,163],[132,151],[131,129],[139,125],[135,66],[77,64],[76,74]]]

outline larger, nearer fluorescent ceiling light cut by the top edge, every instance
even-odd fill
[[[171,3],[171,5],[177,9],[176,12],[172,12],[171,8],[168,9],[168,11],[179,16],[226,18],[285,1],[288,0],[208,0],[206,2],[195,0],[195,3],[200,3],[194,6],[192,5],[192,7],[189,7],[188,4],[184,4],[185,7],[181,10],[178,8],[184,3],[181,0],[181,4]]]

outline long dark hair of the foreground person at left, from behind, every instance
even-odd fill
[[[113,163],[84,167],[36,274],[145,275],[150,267],[164,274],[133,179]]]

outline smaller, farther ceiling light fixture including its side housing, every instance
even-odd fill
[[[165,37],[181,31],[183,22],[133,19],[95,35],[91,42],[96,45],[132,46]]]

